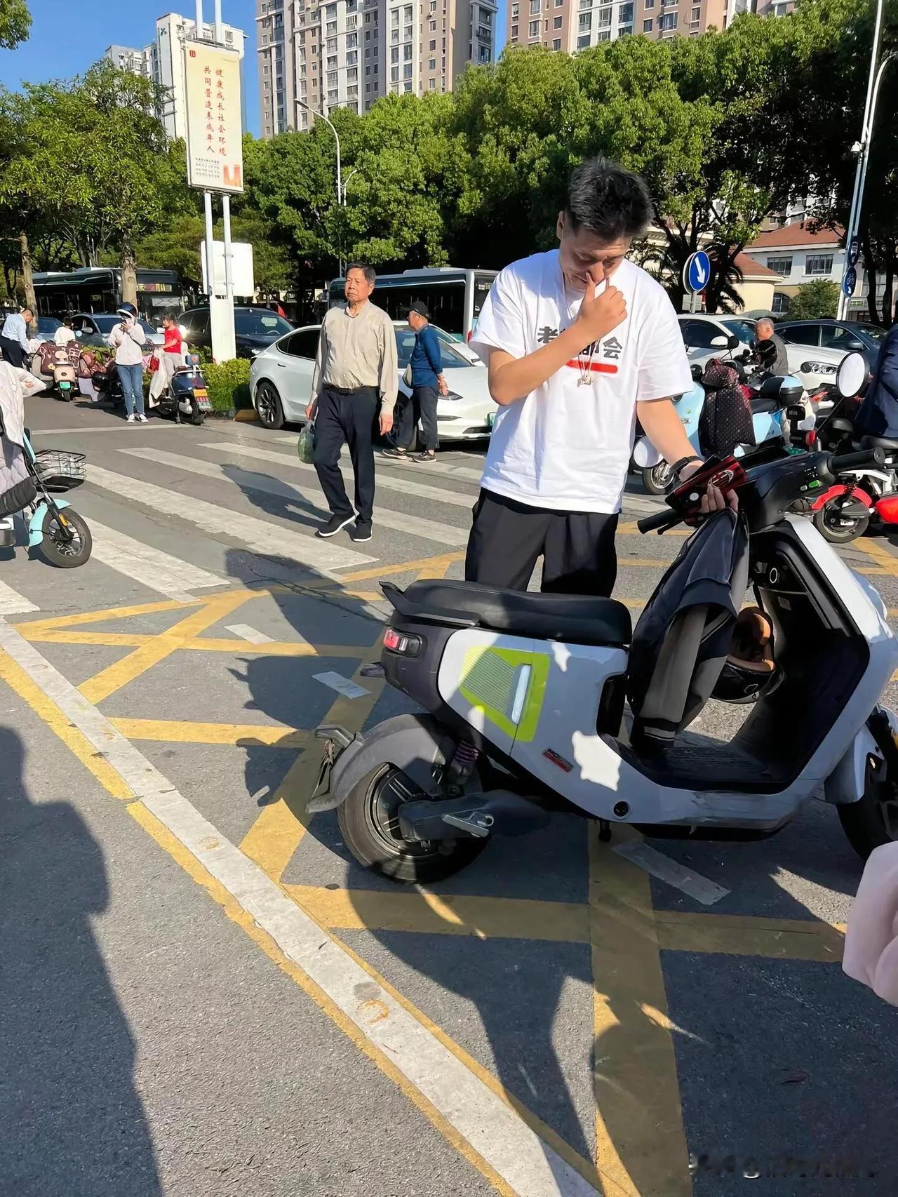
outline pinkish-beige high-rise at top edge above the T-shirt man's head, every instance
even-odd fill
[[[726,29],[741,12],[781,17],[795,5],[796,0],[509,0],[508,41],[572,54],[625,34],[698,36]]]

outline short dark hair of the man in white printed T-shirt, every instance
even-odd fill
[[[607,158],[588,158],[571,175],[565,215],[574,232],[588,229],[601,241],[639,237],[651,224],[644,181]]]

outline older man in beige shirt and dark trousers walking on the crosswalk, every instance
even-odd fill
[[[352,262],[346,271],[346,306],[332,308],[321,326],[305,414],[315,420],[315,469],[330,519],[316,536],[335,536],[352,524],[352,540],[371,539],[374,425],[380,409],[381,436],[393,427],[399,389],[393,321],[370,302],[375,279],[370,266]],[[350,446],[356,475],[354,510],[340,473],[344,444]]]

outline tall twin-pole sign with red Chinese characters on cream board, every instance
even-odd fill
[[[184,41],[187,101],[187,182],[204,193],[206,220],[206,290],[212,332],[212,357],[236,357],[233,330],[233,262],[230,196],[243,192],[243,119],[239,54],[224,43],[222,5],[216,0],[214,41],[202,37],[202,0],[196,0],[196,29]],[[223,198],[225,277],[216,275],[212,196]]]

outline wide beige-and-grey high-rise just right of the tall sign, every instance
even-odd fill
[[[496,12],[494,0],[257,0],[262,136],[390,92],[451,91],[469,62],[493,61]]]

